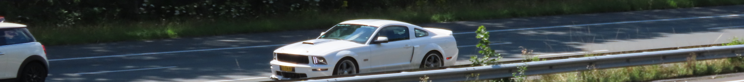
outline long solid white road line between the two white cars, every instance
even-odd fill
[[[283,45],[288,45],[288,44],[275,44],[275,45],[253,46],[253,47],[274,47],[274,46],[283,46]],[[219,49],[242,49],[242,48],[252,48],[252,47],[230,47],[230,48],[219,48]],[[195,49],[195,50],[173,51],[173,52],[196,52],[196,51],[208,51],[208,50],[218,50],[218,49]],[[131,55],[152,55],[152,54],[163,54],[163,53],[173,53],[173,52],[150,52],[150,53],[141,53],[141,54],[109,55],[109,56],[96,56],[96,57],[86,57],[86,58],[108,58],[108,57],[131,56]],[[85,58],[63,58],[63,59],[53,59],[49,61],[64,61],[64,60],[74,60],[74,59],[85,59]]]

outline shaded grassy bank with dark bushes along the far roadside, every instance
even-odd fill
[[[46,45],[744,4],[740,0],[4,0],[0,16]]]

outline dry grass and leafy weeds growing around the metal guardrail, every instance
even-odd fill
[[[744,39],[733,38],[731,42],[722,46],[744,44]],[[523,50],[523,55],[525,51]],[[591,57],[594,54],[585,55]],[[592,69],[578,72],[562,72],[548,75],[525,76],[526,66],[520,66],[513,72],[513,78],[501,78],[487,81],[473,82],[641,82],[671,78],[690,78],[705,75],[719,75],[734,72],[744,72],[744,57],[720,58],[712,60],[695,60],[690,54],[686,62],[673,64],[655,64],[645,66],[629,66],[612,69]],[[533,61],[536,59],[525,59]]]

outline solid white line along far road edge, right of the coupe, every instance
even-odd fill
[[[729,16],[742,16],[742,15],[744,14],[728,15],[728,16],[705,16],[705,17],[695,17],[695,18],[717,18],[717,17],[729,17]],[[556,28],[556,27],[577,27],[577,26],[591,26],[591,25],[602,25],[602,24],[625,24],[625,23],[648,22],[648,21],[672,21],[672,20],[684,20],[684,19],[694,19],[694,18],[670,18],[670,19],[658,19],[658,20],[647,20],[647,21],[622,21],[622,22],[611,22],[611,23],[601,23],[601,24],[578,24],[578,25],[555,26],[555,27],[535,27],[535,28],[523,28],[523,29],[512,29],[512,30],[490,30],[488,32],[513,31],[513,30],[534,30],[534,29],[546,29],[546,28]],[[475,32],[467,32],[467,33],[475,33]],[[466,33],[452,33],[452,34],[466,34]]]

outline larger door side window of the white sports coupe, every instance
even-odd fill
[[[379,30],[377,35],[379,35],[378,37],[387,37],[388,41],[403,41],[410,38],[408,35],[408,27],[403,26],[384,27]]]

